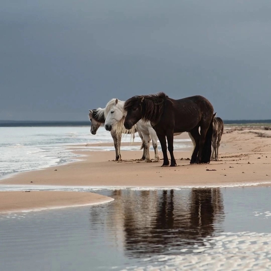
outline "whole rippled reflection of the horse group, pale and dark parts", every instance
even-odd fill
[[[129,257],[180,254],[204,246],[207,236],[222,232],[224,207],[220,189],[115,190],[106,227]],[[102,214],[101,214],[102,215]],[[113,237],[113,236],[114,237]],[[187,251],[188,252],[188,251]]]

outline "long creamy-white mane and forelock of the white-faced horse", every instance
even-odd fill
[[[123,106],[124,106],[124,103],[125,101],[121,101],[121,100],[118,100],[118,103],[115,104],[115,101],[116,101],[116,98],[114,99],[111,99],[107,105],[105,106],[105,109],[104,109],[104,118],[106,119],[109,111],[111,111],[112,109],[112,106],[116,106],[119,110],[121,110],[123,112]],[[130,130],[127,130],[125,129],[124,127],[124,120],[125,120],[125,117],[126,117],[126,113],[123,113],[123,116],[122,116],[122,119],[117,122],[116,125],[114,125],[114,127],[112,127],[112,130],[117,134],[117,135],[121,135],[121,134],[131,134],[131,140],[133,139],[134,140],[134,137],[135,137],[135,125],[132,127],[132,129]]]

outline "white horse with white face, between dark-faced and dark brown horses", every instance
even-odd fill
[[[124,128],[124,119],[126,113],[123,112],[123,106],[125,101],[121,101],[118,99],[110,100],[105,107],[105,124],[104,127],[106,130],[111,131],[115,129],[119,132]],[[144,142],[142,142],[141,149],[144,148],[146,150],[145,162],[152,162],[150,159],[150,140],[152,141],[152,145],[154,148],[154,162],[159,162],[160,157],[157,150],[157,135],[154,131],[153,127],[151,127],[150,122],[143,122],[143,120],[139,120],[136,124],[136,129],[141,132]]]

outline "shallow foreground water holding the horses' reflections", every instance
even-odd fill
[[[114,201],[2,214],[0,270],[270,270],[270,189],[101,190]]]

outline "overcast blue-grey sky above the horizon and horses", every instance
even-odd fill
[[[159,91],[271,119],[270,14],[270,0],[2,0],[0,119],[88,120]]]

